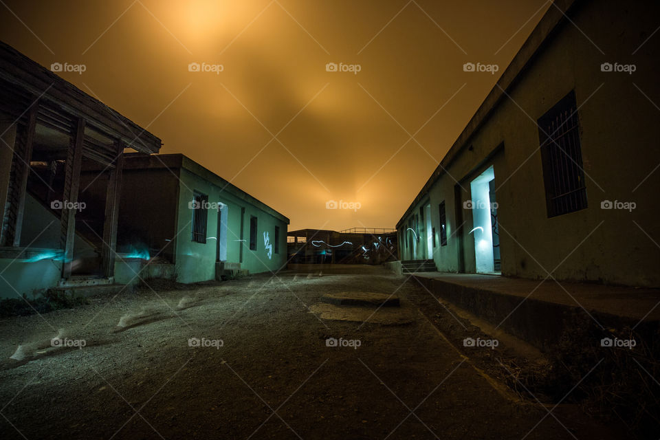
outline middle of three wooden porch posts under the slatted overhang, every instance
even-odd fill
[[[74,239],[76,238],[76,209],[80,189],[80,166],[83,164],[83,140],[85,139],[85,120],[78,118],[74,142],[67,154],[64,177],[64,195],[61,217],[61,243],[64,249],[62,278],[71,276],[71,263],[74,257]]]

